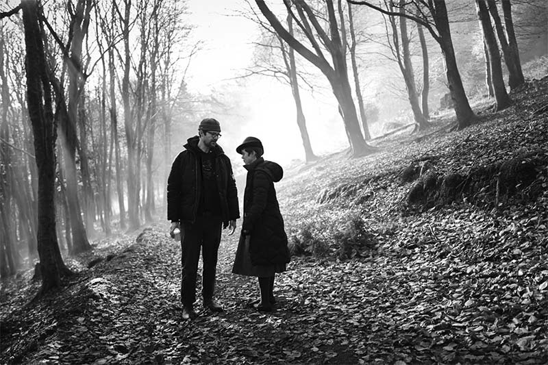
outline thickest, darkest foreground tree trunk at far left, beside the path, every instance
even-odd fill
[[[27,62],[27,104],[34,132],[34,151],[38,166],[38,255],[42,274],[41,292],[60,286],[69,275],[59,250],[55,232],[55,125],[51,110],[51,90],[42,29],[38,24],[38,1],[22,0]]]

